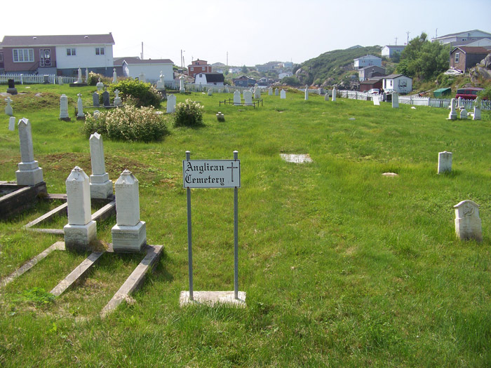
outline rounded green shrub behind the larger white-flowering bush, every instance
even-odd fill
[[[137,107],[160,107],[161,95],[156,88],[150,83],[144,83],[135,79],[123,79],[118,83],[109,86],[109,90],[114,93],[114,90],[119,90],[121,99],[126,101],[128,97],[132,97]]]

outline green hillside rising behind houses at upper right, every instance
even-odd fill
[[[353,71],[353,60],[364,55],[375,55],[380,57],[380,46],[347,48],[345,50],[333,50],[323,53],[314,59],[302,62],[295,68],[298,78],[303,84],[321,85],[328,81],[330,85],[340,83],[345,75],[355,74]]]

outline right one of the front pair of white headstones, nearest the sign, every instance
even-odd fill
[[[124,170],[114,184],[116,191],[116,225],[113,226],[114,252],[141,252],[147,244],[145,222],[140,221],[138,180],[130,170]]]

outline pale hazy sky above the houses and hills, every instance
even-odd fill
[[[491,0],[5,1],[4,36],[108,34],[114,57],[254,66],[301,63],[355,45],[403,45],[426,32],[491,33]],[[13,16],[10,16],[13,15]],[[409,34],[408,34],[409,32]]]

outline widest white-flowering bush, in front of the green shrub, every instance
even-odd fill
[[[160,140],[168,134],[163,115],[155,114],[152,107],[131,105],[100,113],[98,118],[88,115],[82,130],[87,136],[98,132],[109,139],[143,142]]]

